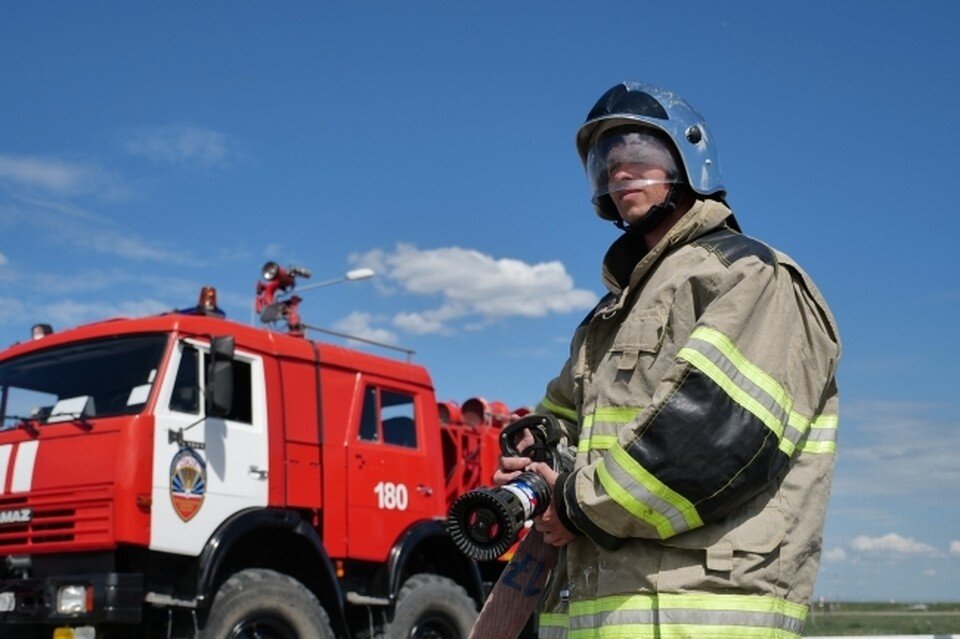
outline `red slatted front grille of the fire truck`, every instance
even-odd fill
[[[110,487],[0,496],[0,554],[102,547],[113,541]]]

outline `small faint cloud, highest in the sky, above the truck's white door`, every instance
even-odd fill
[[[123,148],[152,162],[188,166],[221,166],[234,155],[226,134],[185,125],[130,131]]]

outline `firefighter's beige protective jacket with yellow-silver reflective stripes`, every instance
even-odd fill
[[[787,256],[696,202],[609,294],[539,410],[577,446],[541,637],[799,637],[819,565],[839,337]]]

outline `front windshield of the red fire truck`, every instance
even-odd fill
[[[167,336],[125,335],[0,363],[0,429],[143,410]]]

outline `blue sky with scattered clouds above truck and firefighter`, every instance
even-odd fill
[[[308,323],[414,349],[442,398],[534,404],[617,235],[574,133],[660,84],[840,323],[817,594],[960,600],[958,27],[929,0],[3,3],[0,344],[203,284],[249,322],[268,259],[374,265]]]

